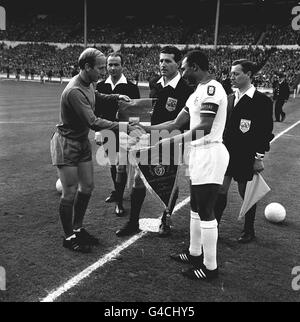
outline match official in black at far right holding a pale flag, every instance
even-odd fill
[[[256,69],[256,65],[246,59],[234,61],[231,67],[231,80],[237,91],[228,97],[223,139],[230,159],[215,206],[219,224],[232,178],[237,181],[239,194],[244,198],[247,182],[252,180],[254,173],[264,170],[263,158],[274,137],[272,100],[251,83]],[[256,204],[245,215],[239,243],[249,243],[254,239],[255,212]]]

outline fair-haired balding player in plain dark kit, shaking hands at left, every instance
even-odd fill
[[[65,87],[60,102],[60,122],[50,143],[52,164],[57,167],[62,183],[59,216],[65,233],[63,246],[76,252],[90,252],[99,244],[83,227],[83,219],[94,188],[90,129],[117,131],[118,122],[95,116],[95,96],[107,101],[130,100],[125,95],[95,92],[93,83],[105,74],[106,57],[95,48],[79,56],[80,72]],[[135,127],[129,126],[134,130]]]

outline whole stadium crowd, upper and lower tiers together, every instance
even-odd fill
[[[29,22],[30,21],[30,22]],[[47,15],[10,21],[7,30],[0,31],[0,41],[25,41],[10,47],[0,44],[0,72],[7,75],[25,75],[32,71],[36,76],[71,77],[76,73],[76,57],[82,51],[83,25],[78,17],[65,18]],[[113,51],[110,45],[121,44],[125,57],[124,73],[135,81],[149,81],[159,73],[157,69],[158,44],[213,45],[214,25],[205,27],[199,23],[184,24],[180,18],[158,21],[155,24],[127,20],[119,24],[91,24],[88,28],[89,43],[105,54]],[[38,43],[41,42],[41,43]],[[69,44],[64,49],[50,43]],[[272,87],[275,72],[284,72],[291,87],[296,86],[296,74],[300,70],[299,50],[282,50],[260,45],[295,45],[299,36],[290,26],[275,25],[222,25],[218,43],[228,47],[205,49],[211,62],[210,69],[220,78],[229,71],[231,62],[240,57],[255,61],[260,70],[256,76],[258,86]],[[124,44],[132,44],[125,47]],[[142,44],[144,46],[142,46]],[[151,47],[145,47],[151,44]],[[242,49],[230,46],[242,45]],[[182,49],[183,52],[186,49]]]

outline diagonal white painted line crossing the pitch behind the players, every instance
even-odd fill
[[[275,142],[279,137],[281,137],[283,134],[285,134],[288,131],[290,131],[292,128],[294,128],[298,124],[300,124],[300,120],[297,121],[296,123],[294,123],[293,125],[289,126],[284,131],[282,131],[279,134],[277,134],[270,143]],[[180,203],[178,203],[175,206],[173,213],[175,214],[179,209],[184,207],[189,201],[190,201],[190,197],[187,197],[184,200],[182,200]],[[97,270],[98,268],[102,267],[106,263],[108,263],[111,260],[113,260],[117,255],[119,255],[119,253],[121,251],[123,251],[124,249],[126,249],[127,247],[129,247],[130,245],[135,243],[137,240],[139,240],[140,238],[142,238],[146,234],[147,234],[147,231],[141,231],[140,233],[138,233],[138,234],[134,235],[133,237],[131,237],[130,239],[126,240],[124,243],[122,243],[121,245],[117,246],[110,253],[108,253],[108,254],[104,255],[103,257],[99,258],[97,260],[97,262],[95,262],[94,264],[90,265],[89,267],[84,269],[82,272],[80,272],[79,274],[77,274],[74,277],[72,277],[71,279],[69,279],[65,284],[63,284],[62,286],[58,287],[57,289],[51,291],[45,298],[41,299],[40,302],[54,302],[62,294],[64,294],[69,289],[71,289],[74,286],[76,286],[79,282],[81,282],[83,279],[87,278],[95,270]]]

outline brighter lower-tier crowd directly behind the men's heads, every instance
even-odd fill
[[[133,81],[149,81],[159,73],[157,56],[159,46],[153,47],[121,47],[125,57],[124,74]],[[109,46],[99,47],[105,54],[113,51]],[[183,49],[185,52],[187,49]],[[261,87],[272,87],[275,72],[283,72],[291,88],[294,88],[297,72],[300,70],[300,50],[283,50],[272,48],[244,47],[232,49],[219,47],[217,50],[204,49],[210,58],[210,71],[216,78],[222,72],[229,72],[231,62],[238,57],[245,57],[257,63],[260,70],[256,75],[256,83]],[[0,46],[0,72],[14,77],[17,70],[25,75],[25,69],[34,69],[36,76],[43,71],[52,70],[54,77],[59,77],[63,70],[64,77],[71,77],[76,69],[76,57],[82,51],[81,46],[67,46],[59,49],[49,44],[20,44],[16,47]]]

